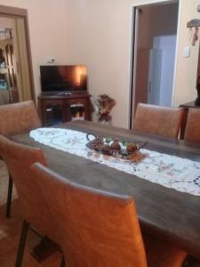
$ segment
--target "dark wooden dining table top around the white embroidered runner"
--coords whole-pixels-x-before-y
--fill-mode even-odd
[[[86,133],[116,137],[118,139],[148,141],[147,149],[175,155],[180,158],[200,160],[200,145],[158,139],[147,134],[133,133],[118,127],[92,122],[69,122],[58,127],[80,130]],[[12,137],[15,142],[40,147],[48,166],[73,182],[100,190],[128,194],[134,198],[140,225],[148,231],[171,240],[174,245],[200,258],[200,197],[165,188],[133,174],[126,174],[100,165],[92,160],[77,157],[35,142],[28,134]]]

